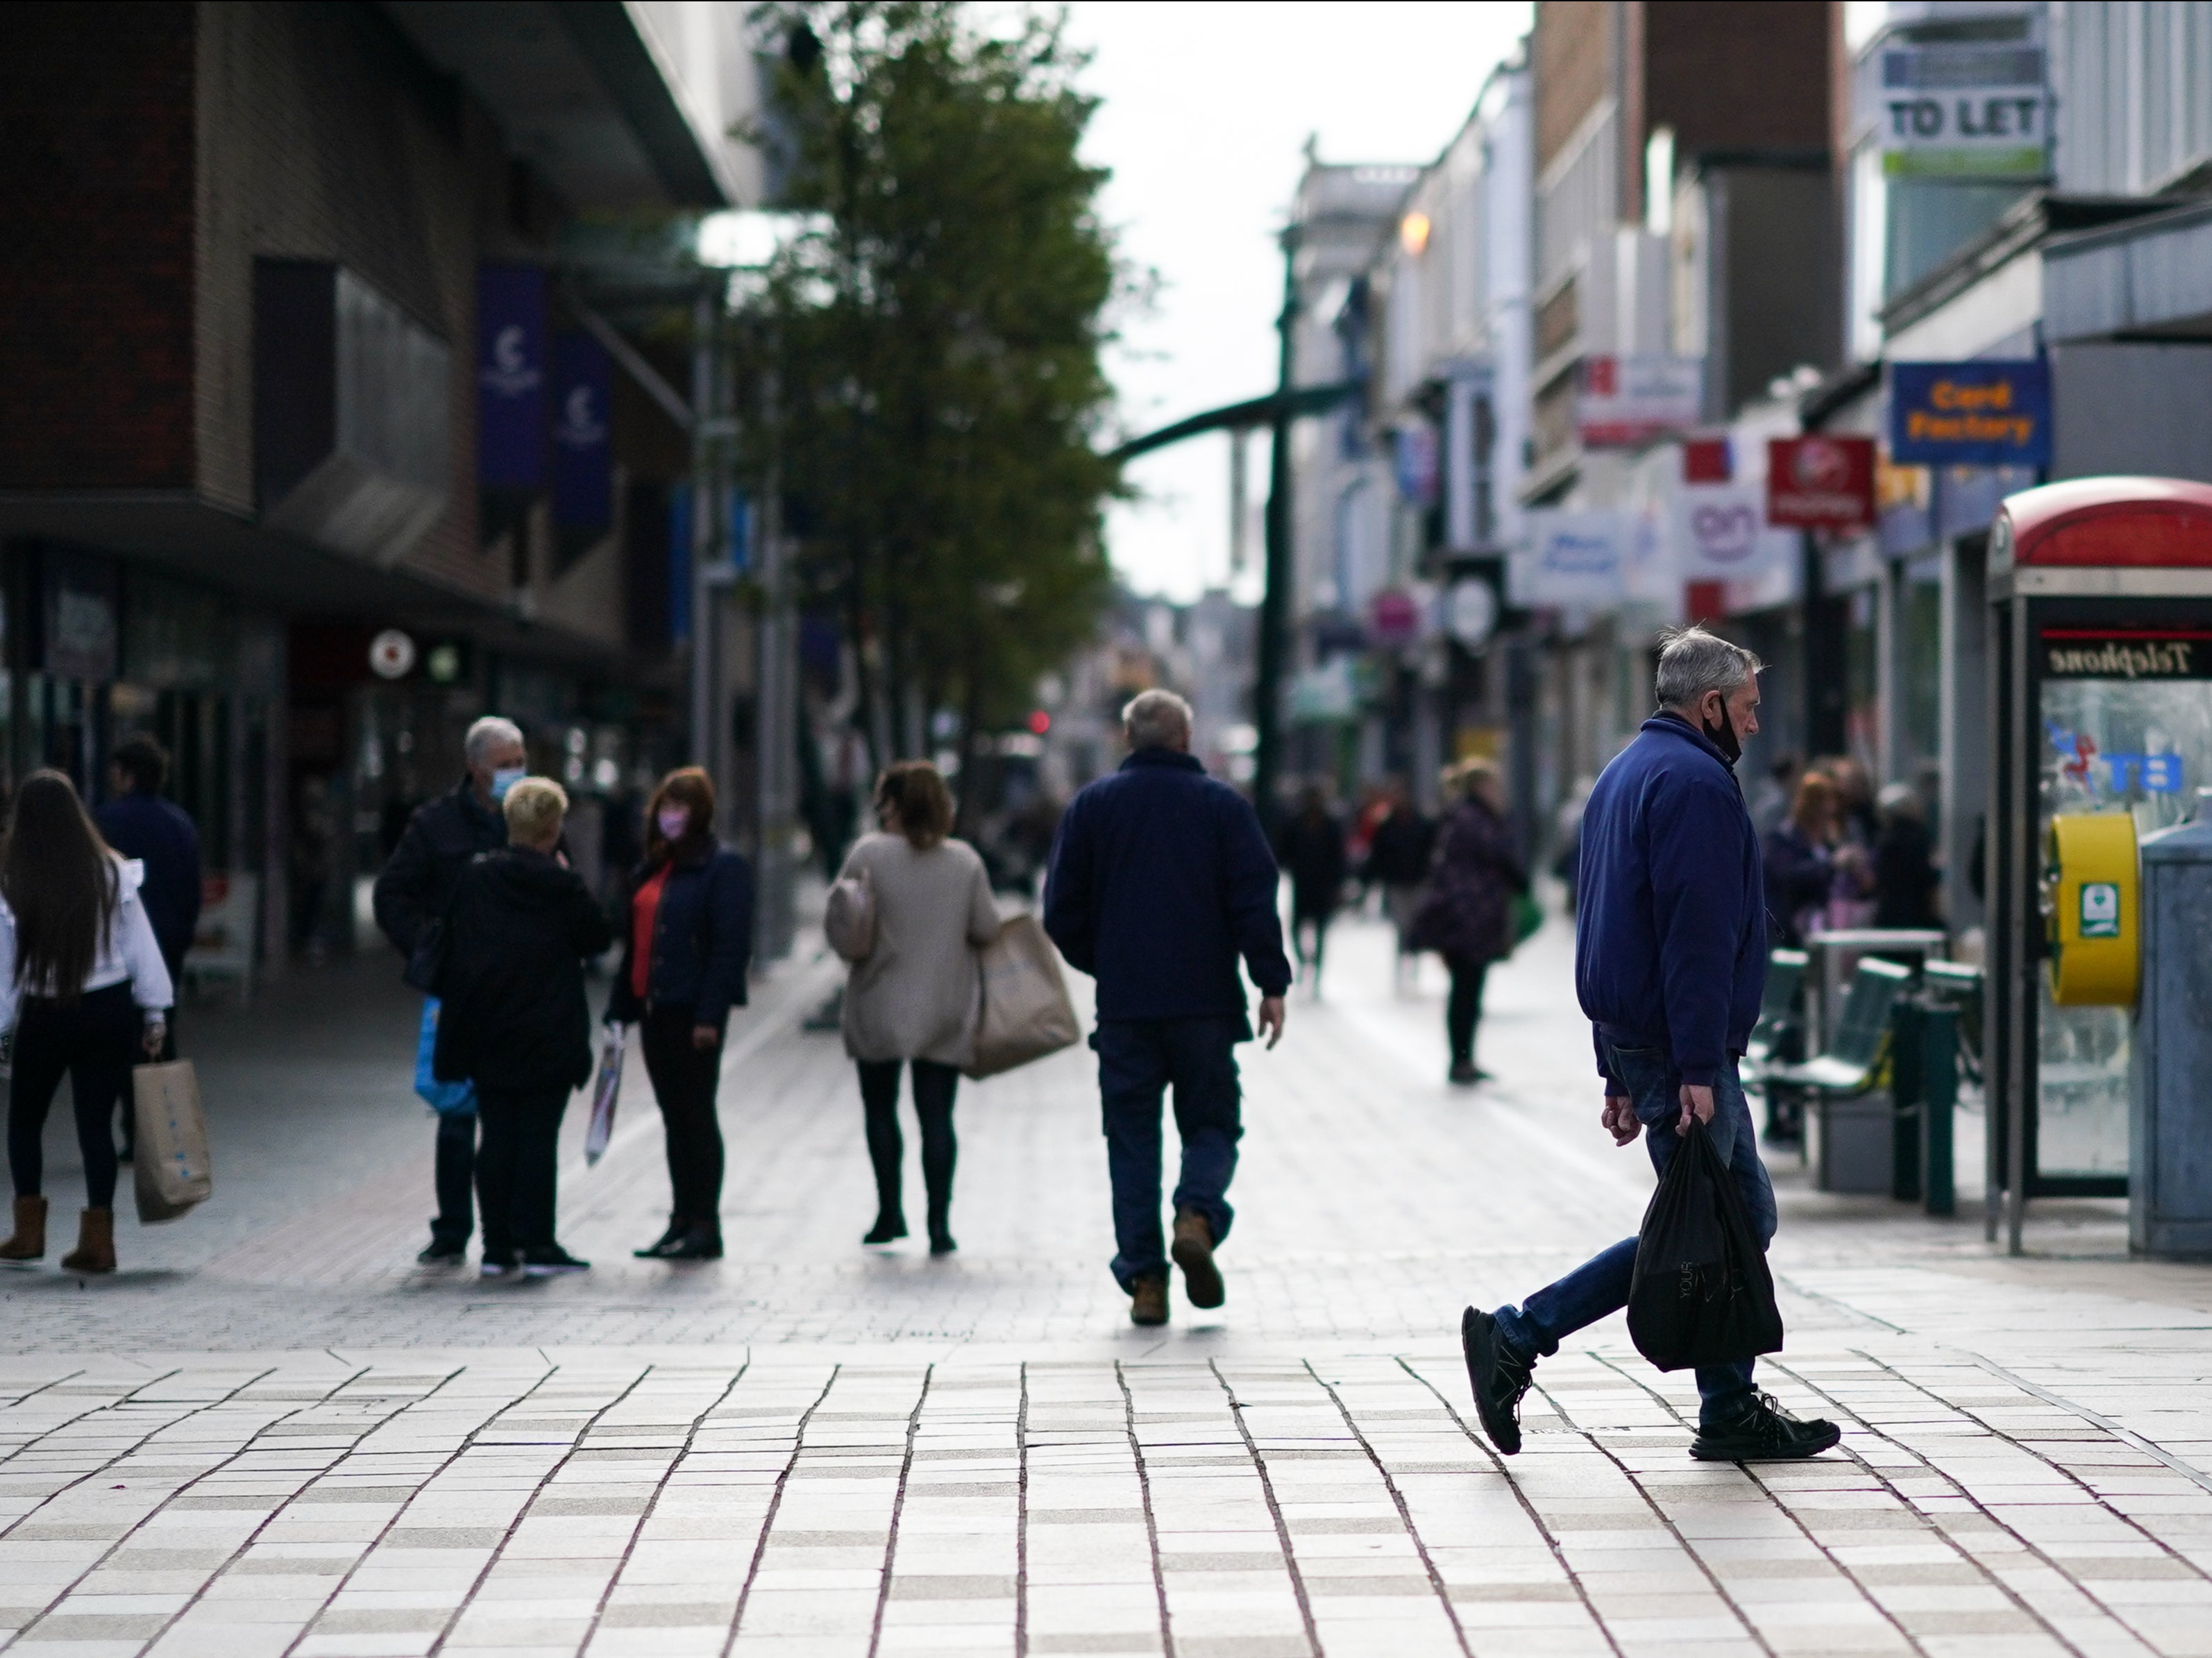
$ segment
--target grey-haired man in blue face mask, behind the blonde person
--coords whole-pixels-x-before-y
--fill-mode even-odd
[[[411,962],[422,933],[445,915],[460,871],[484,851],[507,844],[500,800],[529,772],[522,730],[495,714],[476,721],[462,738],[467,772],[451,794],[425,800],[407,820],[407,833],[376,878],[376,924],[400,959]],[[422,1265],[467,1260],[476,1229],[476,1099],[438,1103],[438,1218],[429,1222]]]

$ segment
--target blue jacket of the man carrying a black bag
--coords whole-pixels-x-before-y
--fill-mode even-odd
[[[1765,979],[1759,836],[1734,767],[1655,714],[1582,816],[1575,995],[1599,1035],[1663,1048],[1686,1083],[1710,1088],[1752,1039]]]

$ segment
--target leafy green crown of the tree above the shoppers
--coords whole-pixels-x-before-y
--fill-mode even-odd
[[[750,464],[787,504],[803,601],[860,646],[872,725],[900,743],[951,710],[967,754],[1110,588],[1099,351],[1128,290],[1106,172],[1077,155],[1086,60],[1060,18],[993,31],[945,0],[763,20],[792,46],[776,128],[799,230],[745,305]]]

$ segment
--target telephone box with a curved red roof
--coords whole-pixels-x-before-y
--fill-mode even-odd
[[[2141,836],[2212,785],[2212,486],[2006,497],[1989,604],[1989,1220],[2002,1192],[2017,1253],[2028,1198],[2128,1192],[2135,1012],[2053,999],[2044,849],[2057,816],[2126,811]]]

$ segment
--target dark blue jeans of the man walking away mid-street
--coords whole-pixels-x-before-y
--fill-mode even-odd
[[[1183,1141],[1175,1207],[1203,1214],[1217,1245],[1230,1236],[1234,1211],[1225,1194],[1243,1136],[1237,1043],[1250,1035],[1243,1019],[1113,1019],[1093,1032],[1113,1176],[1113,1276],[1121,1289],[1168,1271],[1159,1225],[1159,1099],[1170,1083],[1175,1132]]]

